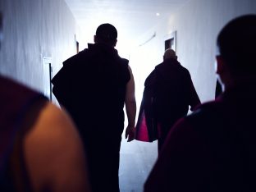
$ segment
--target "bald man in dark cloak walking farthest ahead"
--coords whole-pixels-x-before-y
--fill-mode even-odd
[[[148,91],[152,93],[152,99],[148,100],[152,100],[153,113],[150,117],[147,116],[149,112],[145,111],[145,114],[147,126],[150,126],[149,122],[153,122],[157,129],[160,152],[171,126],[187,114],[189,106],[193,111],[194,107],[200,104],[200,100],[190,72],[177,61],[176,53],[171,48],[165,51],[163,62],[156,66],[145,80],[145,89],[152,89]],[[150,110],[150,107],[148,108]],[[149,118],[153,121],[149,121]],[[139,130],[136,131],[138,133]]]

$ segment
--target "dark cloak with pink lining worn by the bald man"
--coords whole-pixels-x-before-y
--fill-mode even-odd
[[[171,126],[179,118],[185,117],[189,106],[193,110],[200,103],[190,72],[173,58],[156,66],[145,80],[144,86],[144,97],[136,126],[137,139],[143,137],[139,131],[144,126],[148,128],[149,141],[158,139],[160,135],[156,134],[159,129],[162,135],[167,135]],[[146,122],[144,126],[143,119]]]

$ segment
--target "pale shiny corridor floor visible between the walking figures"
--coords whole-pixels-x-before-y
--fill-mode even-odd
[[[157,142],[146,143],[133,140],[121,142],[119,181],[121,192],[142,192],[144,181],[149,176],[158,156]]]

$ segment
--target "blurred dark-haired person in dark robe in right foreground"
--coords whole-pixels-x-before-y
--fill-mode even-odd
[[[171,129],[144,191],[256,191],[256,15],[218,34],[224,93]]]

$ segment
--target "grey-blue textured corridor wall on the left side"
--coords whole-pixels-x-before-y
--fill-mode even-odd
[[[43,57],[53,75],[75,53],[75,19],[63,0],[0,0],[3,35],[0,73],[43,91]]]

